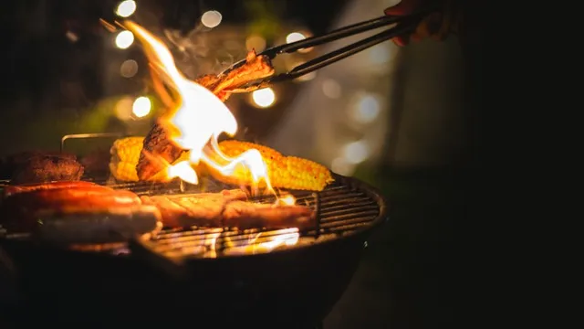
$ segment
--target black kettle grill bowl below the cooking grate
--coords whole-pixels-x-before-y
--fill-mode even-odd
[[[380,206],[347,236],[294,249],[219,259],[189,259],[184,275],[140,255],[113,256],[5,240],[26,296],[23,319],[83,327],[185,324],[194,327],[297,328],[321,321],[356,271],[372,228],[386,219],[378,192],[354,179]]]

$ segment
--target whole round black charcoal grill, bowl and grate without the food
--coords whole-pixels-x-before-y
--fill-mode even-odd
[[[287,191],[297,202],[315,207],[318,225],[303,232],[297,245],[268,253],[222,252],[226,242],[258,233],[228,229],[216,239],[218,252],[213,257],[191,248],[216,234],[216,228],[164,230],[154,239],[99,253],[41,246],[26,239],[4,239],[3,247],[16,265],[26,313],[47,321],[109,328],[136,324],[171,328],[187,321],[202,328],[307,327],[321,321],[339,300],[371,229],[387,219],[386,204],[375,189],[349,177],[335,175],[335,180],[319,193]],[[139,195],[193,192],[178,182],[111,186]],[[203,186],[227,187],[213,182]]]

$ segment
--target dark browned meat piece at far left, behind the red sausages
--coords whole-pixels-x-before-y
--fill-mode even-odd
[[[78,181],[83,165],[70,154],[19,154],[12,160],[11,184]]]

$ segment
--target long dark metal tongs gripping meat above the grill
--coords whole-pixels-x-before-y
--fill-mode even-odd
[[[348,58],[362,50],[371,48],[383,41],[390,40],[393,37],[399,37],[403,34],[413,32],[416,27],[422,22],[422,19],[429,14],[435,12],[438,8],[429,7],[422,11],[409,16],[381,16],[373,18],[364,22],[350,25],[348,27],[341,27],[339,29],[333,30],[325,35],[319,37],[308,37],[296,42],[288,43],[285,45],[276,46],[273,48],[268,48],[263,52],[257,54],[258,56],[266,56],[267,58],[274,59],[280,54],[289,54],[296,52],[297,50],[303,48],[311,48],[315,46],[320,46],[327,44],[329,42],[337,41],[344,37],[350,37],[362,32],[366,32],[379,27],[386,27],[395,25],[383,32],[380,32],[372,37],[367,37],[349,46],[339,48],[328,54],[308,60],[306,63],[298,65],[296,68],[287,71],[286,73],[276,74],[272,77],[250,82],[236,88],[235,90],[230,90],[231,92],[249,92],[253,90],[260,90],[268,87],[269,85],[276,82],[283,82],[289,80],[295,80],[305,74],[313,72],[317,69],[326,67],[332,63],[335,63],[343,58]],[[245,59],[236,62],[234,65],[225,69],[222,74],[229,73],[233,69],[242,67],[245,64]]]

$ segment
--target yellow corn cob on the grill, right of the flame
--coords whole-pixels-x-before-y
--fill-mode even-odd
[[[219,143],[221,151],[235,157],[245,151],[256,149],[262,154],[267,166],[267,175],[274,187],[282,187],[297,190],[322,191],[334,179],[330,171],[322,164],[317,164],[307,159],[296,156],[285,156],[275,150],[255,143],[228,140]],[[228,184],[250,185],[252,176],[249,170],[239,166],[234,175],[225,176],[211,167],[207,168],[215,179]],[[262,182],[260,182],[260,186]]]

